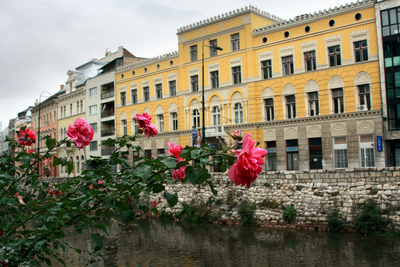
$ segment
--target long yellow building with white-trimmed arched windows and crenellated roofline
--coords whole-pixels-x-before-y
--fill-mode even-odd
[[[193,144],[204,67],[207,144],[251,133],[269,151],[267,170],[384,166],[373,2],[288,21],[250,6],[177,35],[179,52],[116,72],[117,135],[149,113],[160,134],[136,142],[148,155],[162,156],[170,141]]]

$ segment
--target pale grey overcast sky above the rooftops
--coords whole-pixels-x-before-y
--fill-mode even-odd
[[[33,105],[41,92],[59,90],[69,69],[103,57],[107,49],[115,52],[124,46],[135,56],[154,57],[178,49],[179,27],[246,5],[289,19],[349,2],[0,1],[0,121],[4,128],[18,112]]]

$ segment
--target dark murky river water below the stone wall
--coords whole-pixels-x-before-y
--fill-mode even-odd
[[[110,223],[109,234],[121,226]],[[69,240],[92,250],[90,232]],[[400,238],[250,226],[187,224],[150,219],[105,239],[93,267],[123,266],[400,266]],[[87,255],[68,250],[66,265],[84,266]]]

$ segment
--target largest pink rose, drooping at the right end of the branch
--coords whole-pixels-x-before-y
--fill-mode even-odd
[[[246,185],[250,188],[262,171],[261,165],[264,164],[263,158],[267,155],[267,150],[254,147],[254,145],[251,134],[247,133],[243,139],[243,149],[233,150],[233,153],[238,155],[238,159],[229,169],[228,176],[236,186]]]

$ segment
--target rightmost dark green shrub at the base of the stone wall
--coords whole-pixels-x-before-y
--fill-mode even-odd
[[[356,230],[361,234],[374,234],[383,231],[390,224],[382,217],[382,211],[373,199],[367,199],[361,205],[362,211],[355,220]]]

